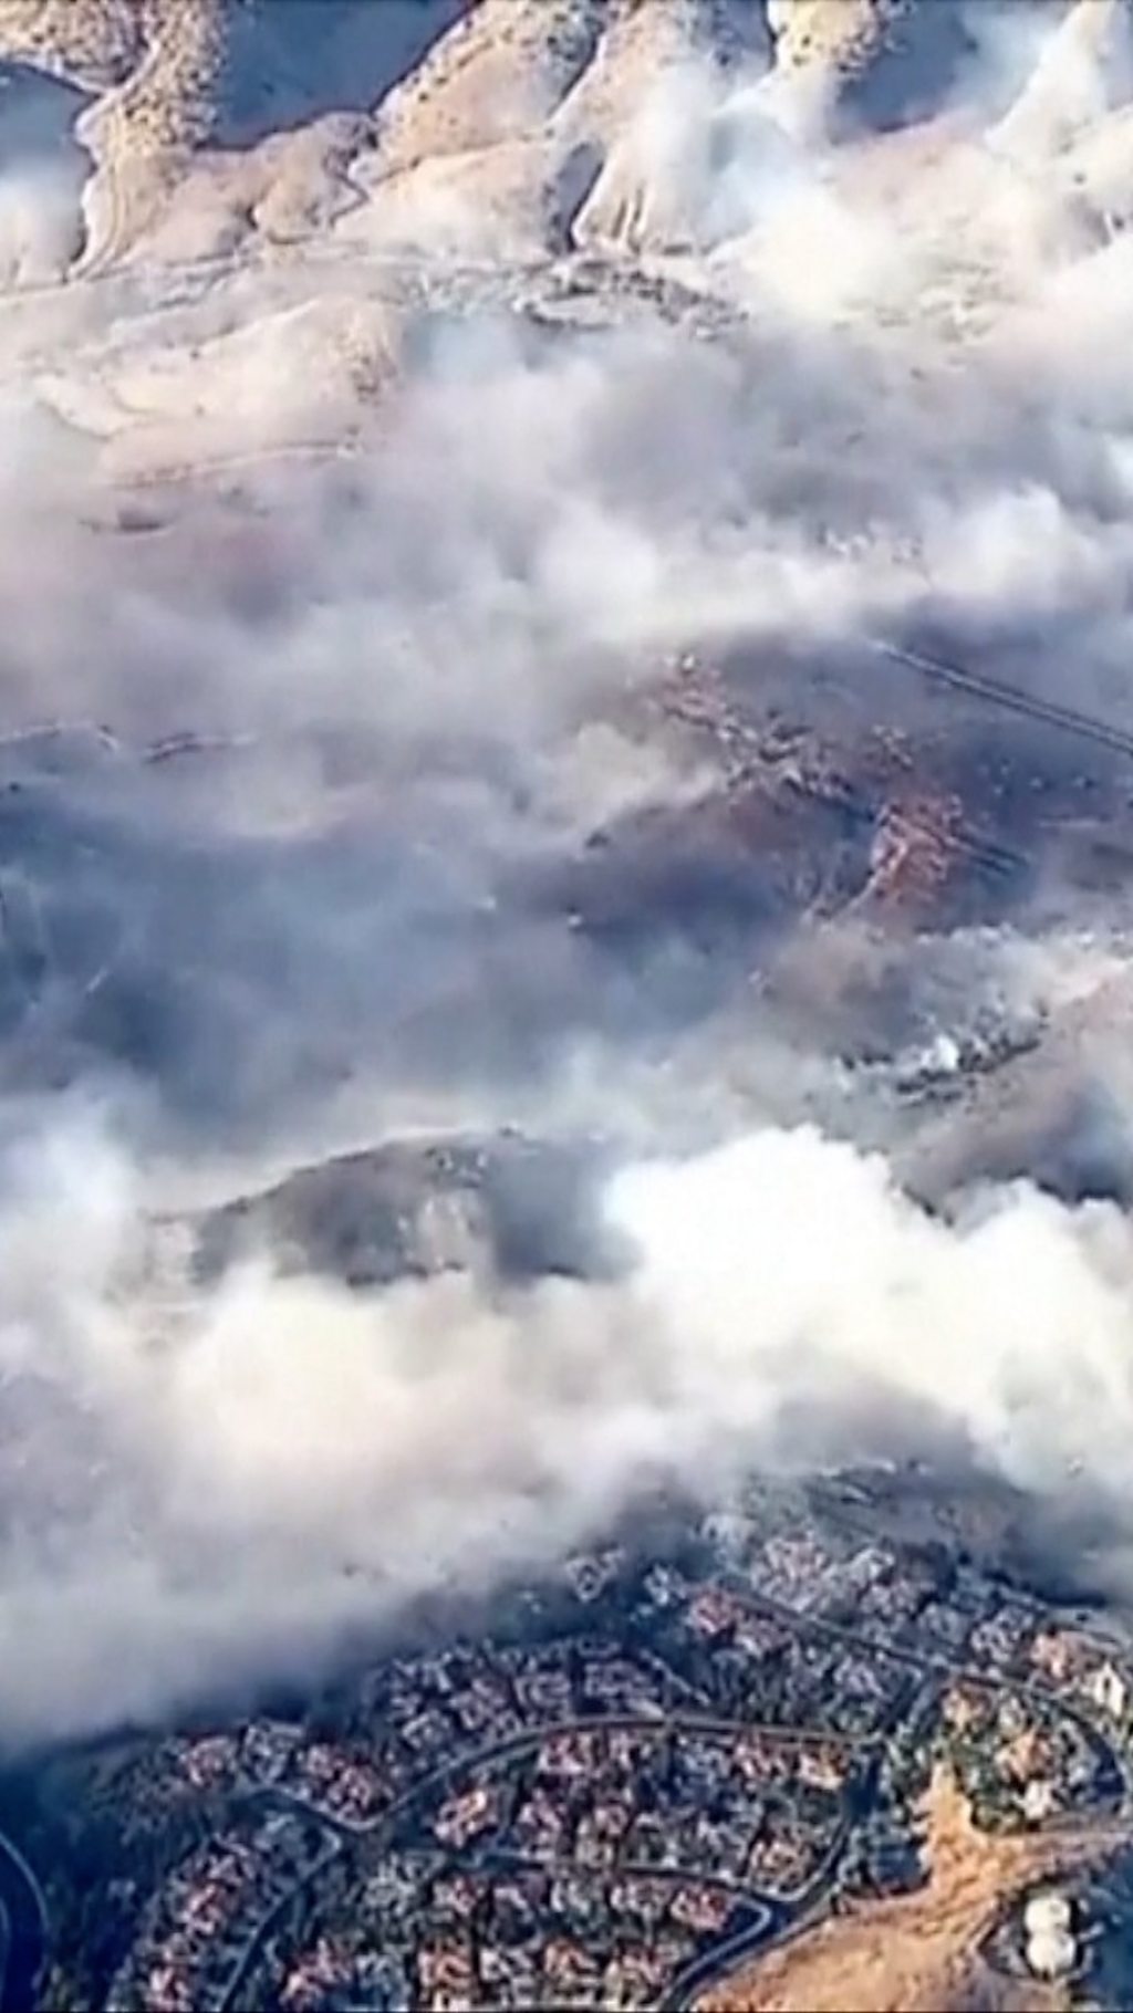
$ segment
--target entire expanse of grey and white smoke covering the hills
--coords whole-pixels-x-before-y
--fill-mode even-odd
[[[1026,101],[1036,22],[990,12],[885,141],[666,70],[580,209],[622,231],[588,328],[429,242],[380,300],[298,254],[52,292],[0,163],[0,1737],[302,1663],[658,1480],[1083,1461],[1127,1520],[1129,1226],[1024,1180],[1073,1190],[1034,1127],[1079,1113],[1133,1166],[1127,898],[1059,851],[1121,749],[873,648],[1133,731],[1119,24]],[[924,745],[1012,894],[885,936],[829,827],[781,866],[720,809],[743,751],[650,711],[688,646]],[[1038,1029],[1000,1101],[902,1103],[980,1015]],[[201,1282],[177,1242],[330,1147],[513,1119],[604,1135],[618,1276],[350,1292],[264,1234]]]

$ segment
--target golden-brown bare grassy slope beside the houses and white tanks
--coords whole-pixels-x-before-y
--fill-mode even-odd
[[[944,2013],[976,1995],[1006,2005],[1006,1983],[976,1975],[976,1949],[994,1916],[1028,1882],[1119,1842],[1101,1828],[1010,1838],[978,1832],[944,1769],[932,1779],[926,1820],[930,1878],[920,1892],[829,1916],[706,1993],[702,2013]],[[1026,1985],[1028,2013],[1061,2003],[1038,1983]]]

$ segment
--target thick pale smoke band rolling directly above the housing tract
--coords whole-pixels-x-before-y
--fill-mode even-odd
[[[151,1711],[487,1584],[634,1492],[962,1447],[1115,1500],[1133,1232],[1026,1186],[944,1222],[881,1157],[765,1129],[608,1188],[624,1278],[350,1294],[141,1264],[99,1131],[6,1166],[0,1608],[8,1735]],[[66,1645],[66,1653],[62,1647]],[[129,1655],[123,1647],[129,1645]]]

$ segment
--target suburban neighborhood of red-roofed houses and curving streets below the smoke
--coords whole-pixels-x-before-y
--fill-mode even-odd
[[[646,2007],[916,1890],[940,1765],[990,1832],[1121,1824],[1133,1655],[753,1486],[308,1697],[58,1755],[16,1808],[64,2005]]]

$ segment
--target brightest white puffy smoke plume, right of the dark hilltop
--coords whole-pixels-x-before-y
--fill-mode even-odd
[[[849,1415],[853,1433],[898,1401],[1022,1488],[1057,1490],[1083,1453],[1123,1486],[1133,1234],[1113,1208],[1020,1184],[944,1222],[881,1157],[813,1131],[634,1170],[612,1208],[638,1294],[688,1353],[682,1399],[718,1407],[718,1429],[729,1391],[771,1447],[785,1413]]]

